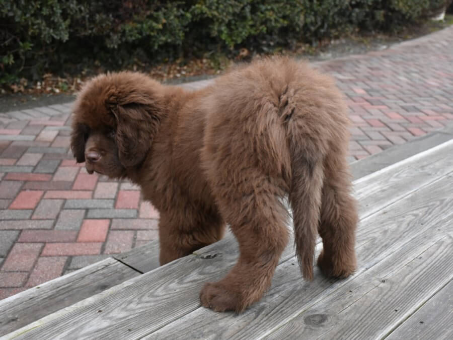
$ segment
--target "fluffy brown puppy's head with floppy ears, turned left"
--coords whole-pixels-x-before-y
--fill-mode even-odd
[[[71,149],[78,163],[112,178],[146,157],[163,115],[161,85],[139,73],[101,75],[75,102]]]

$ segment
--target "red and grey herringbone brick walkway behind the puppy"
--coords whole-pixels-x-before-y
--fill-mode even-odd
[[[316,66],[347,96],[351,161],[453,120],[453,26]],[[0,113],[0,299],[158,236],[158,213],[137,187],[74,162],[70,108]]]

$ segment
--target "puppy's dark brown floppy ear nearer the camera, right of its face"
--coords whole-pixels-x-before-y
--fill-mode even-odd
[[[117,121],[118,157],[125,168],[135,166],[145,158],[159,129],[158,111],[152,103],[137,102],[112,108]]]

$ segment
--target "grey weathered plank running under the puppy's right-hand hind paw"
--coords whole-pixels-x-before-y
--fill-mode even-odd
[[[400,259],[401,251],[405,251],[403,246],[417,250],[417,247],[432,245],[447,232],[453,231],[453,223],[446,222],[446,219],[451,221],[453,218],[451,190],[453,179],[445,176],[363,220],[357,232],[359,269],[352,279],[401,248],[395,257]],[[434,232],[432,229],[437,225],[440,227]],[[411,239],[414,236],[416,240]],[[283,325],[351,280],[328,280],[316,271],[315,281],[304,283],[296,271],[291,270],[292,265],[297,265],[295,259],[277,267],[270,291],[246,313],[234,316],[199,308],[150,334],[148,338],[192,338],[201,334],[203,338],[257,338],[266,334],[270,327]],[[390,268],[391,265],[392,262]]]

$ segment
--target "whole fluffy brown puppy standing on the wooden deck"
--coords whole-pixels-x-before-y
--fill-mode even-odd
[[[139,73],[101,75],[79,94],[71,148],[89,173],[129,178],[160,212],[160,262],[218,241],[225,223],[240,256],[206,284],[201,304],[243,311],[271,284],[288,241],[313,278],[317,231],[326,275],[356,266],[348,118],[331,78],[301,62],[260,59],[196,92]]]

